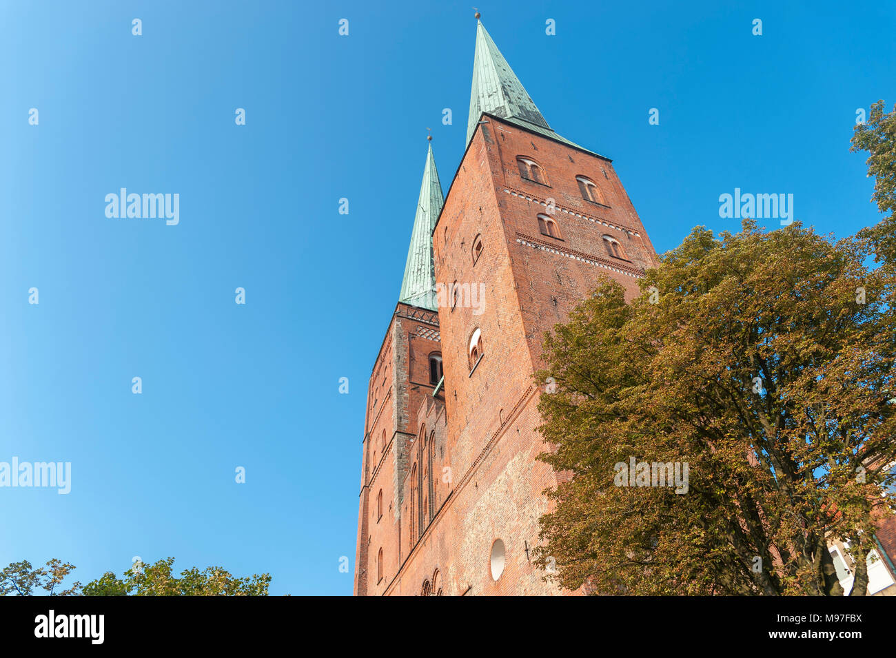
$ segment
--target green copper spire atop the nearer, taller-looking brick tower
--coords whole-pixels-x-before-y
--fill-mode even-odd
[[[476,26],[476,56],[473,58],[473,87],[470,90],[470,117],[467,120],[467,144],[476,132],[483,112],[500,116],[533,132],[573,144],[547,125],[510,64],[495,46],[482,21]],[[573,144],[573,146],[577,146]]]

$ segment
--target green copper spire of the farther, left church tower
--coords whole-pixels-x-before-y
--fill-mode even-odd
[[[420,184],[420,198],[417,214],[410,234],[408,262],[404,266],[399,301],[420,308],[437,311],[435,307],[435,264],[433,262],[433,229],[444,204],[439,173],[435,171],[433,145],[426,153],[426,167],[423,169],[423,183]]]

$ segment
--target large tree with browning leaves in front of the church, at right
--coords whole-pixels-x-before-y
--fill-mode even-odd
[[[894,209],[894,125],[875,104],[854,149]],[[538,561],[598,594],[866,594],[896,459],[892,216],[833,241],[798,223],[695,228],[626,303],[607,280],[546,337],[541,396],[564,477]],[[870,256],[882,263],[866,268]],[[687,464],[686,493],[618,486],[617,465]]]

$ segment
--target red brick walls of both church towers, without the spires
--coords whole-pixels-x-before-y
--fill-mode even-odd
[[[537,163],[542,182],[521,175],[517,158]],[[600,202],[584,198],[576,176],[597,186]],[[554,235],[543,235],[539,214],[554,220]],[[631,298],[656,252],[610,160],[487,114],[433,250],[436,285],[449,292],[437,316],[398,305],[370,380],[355,594],[572,594],[532,564],[543,491],[556,485],[536,459],[546,446],[532,373],[544,332],[599,278],[616,279]],[[477,329],[482,355],[472,363]],[[438,390],[428,372],[434,353],[444,367]],[[495,580],[498,539],[504,570]]]

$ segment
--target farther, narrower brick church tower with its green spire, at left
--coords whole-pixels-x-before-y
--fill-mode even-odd
[[[442,405],[444,399],[437,393],[442,355],[432,240],[443,203],[430,144],[399,301],[367,387],[355,594],[383,594],[386,577],[394,577],[400,567],[402,521],[405,537],[418,532],[422,524],[422,490],[426,485],[428,491],[432,470],[427,469],[424,477],[422,470],[414,469],[418,465],[411,457],[417,449],[420,406]],[[434,498],[427,496],[426,505]],[[412,507],[418,517],[413,524],[410,509],[404,515],[407,518],[402,517],[402,506]]]

